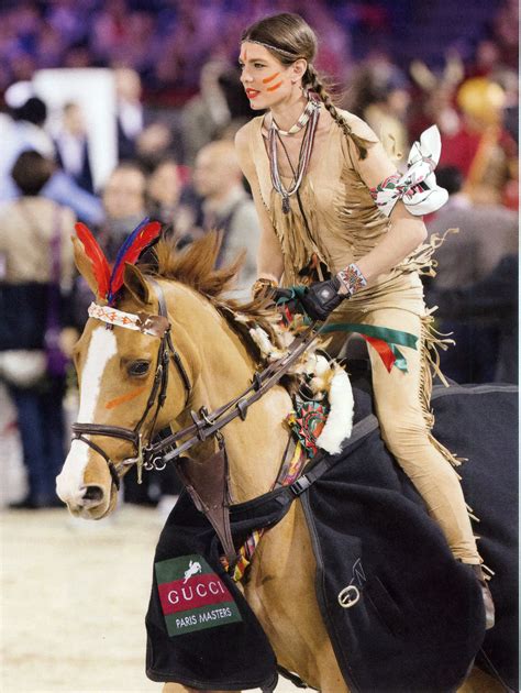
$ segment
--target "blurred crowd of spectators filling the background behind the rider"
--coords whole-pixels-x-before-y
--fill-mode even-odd
[[[517,382],[518,4],[491,3],[472,50],[442,45],[435,64],[422,56],[403,63],[392,53],[390,6],[1,3],[0,378],[15,415],[3,407],[0,440],[15,416],[27,473],[14,505],[57,503],[64,402],[74,403],[76,393],[71,345],[91,300],[74,271],[75,221],[91,228],[110,261],[144,217],[162,221],[180,244],[219,228],[219,263],[246,251],[236,296],[248,296],[259,228],[233,146],[252,114],[237,46],[241,31],[270,12],[299,12],[315,28],[318,67],[336,84],[340,106],[372,125],[398,168],[407,167],[422,131],[439,127],[436,175],[450,201],[425,221],[431,237],[458,229],[437,251],[437,275],[425,277],[437,328],[457,342],[441,367],[462,383]],[[361,55],[354,26],[374,38]],[[109,70],[115,160],[104,177],[97,174],[85,101],[56,107],[38,91],[38,72],[64,67]],[[125,499],[156,504],[176,491],[175,479],[148,475],[143,486],[125,484]]]

